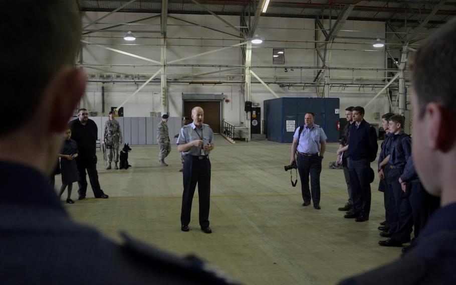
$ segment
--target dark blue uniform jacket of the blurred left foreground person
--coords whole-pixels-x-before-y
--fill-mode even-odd
[[[182,259],[125,234],[118,244],[74,222],[35,169],[0,161],[0,173],[2,284],[229,283],[196,257]]]

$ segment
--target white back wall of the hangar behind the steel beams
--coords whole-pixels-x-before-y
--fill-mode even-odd
[[[104,15],[103,13],[86,13],[88,19],[95,20]],[[121,13],[114,14],[106,18],[105,22],[126,22],[135,19],[150,17],[150,14],[129,14]],[[185,19],[190,22],[206,25],[220,25],[224,24],[213,16],[210,15],[171,15],[177,18]],[[229,21],[235,26],[239,26],[240,19],[236,16],[223,16],[226,21]],[[88,22],[89,20],[86,19]],[[147,22],[150,26],[131,26],[134,30],[154,30],[159,31],[160,18],[154,18]],[[172,26],[173,24],[182,23],[174,19],[168,19],[167,35],[168,37],[177,37],[177,39],[168,39],[167,48],[167,61],[172,61],[186,56],[199,54],[206,51],[221,48],[222,46],[229,46],[240,43],[240,40],[207,40],[201,38],[233,38],[232,36],[221,34],[215,31],[210,31],[201,27],[177,27]],[[314,20],[312,19],[286,19],[286,18],[272,18],[272,17],[261,17],[257,29],[257,34],[260,35],[265,41],[259,47],[254,47],[252,52],[252,65],[253,66],[273,66],[272,64],[272,49],[273,48],[285,48],[285,66],[317,66],[321,64],[317,61],[317,55],[313,50],[314,43],[296,43],[296,42],[277,42],[282,41],[313,41],[314,39]],[[328,26],[327,21],[324,25]],[[93,28],[103,28],[106,25],[94,25]],[[268,29],[268,28],[290,28],[290,29]],[[235,33],[231,28],[218,27],[217,29],[226,31],[227,33]],[[385,26],[384,23],[380,22],[360,22],[360,21],[347,21],[342,29],[346,30],[357,30],[365,32],[340,32],[341,36],[351,37],[384,37]],[[111,44],[112,48],[126,51],[129,53],[144,56],[156,61],[160,61],[160,39],[141,39],[138,38],[135,41],[136,45],[124,45],[126,42],[122,38],[110,38],[109,33],[103,33],[103,38],[91,37],[85,38],[93,43],[97,44]],[[113,33],[114,35],[114,33]],[[119,36],[119,34],[115,34]],[[158,34],[150,33],[135,33],[137,37],[159,37]],[[193,37],[195,39],[179,39],[179,37]],[[276,41],[274,41],[276,40]],[[358,42],[359,40],[340,39],[338,41],[344,42]],[[207,47],[211,46],[211,47]],[[297,49],[301,48],[301,49]],[[302,49],[308,48],[308,49]],[[348,45],[348,44],[333,44],[331,48],[341,49],[337,51],[331,51],[328,54],[329,66],[337,67],[368,67],[368,68],[384,68],[385,67],[385,54],[384,51],[344,51],[344,48],[349,49],[360,49],[360,50],[373,50],[371,45],[359,44],[359,45]],[[86,46],[84,48],[84,63],[85,64],[126,64],[126,65],[144,65],[152,64],[150,62],[121,55],[105,49]],[[240,48],[226,49],[222,52],[208,54],[202,57],[192,58],[179,63],[182,64],[213,64],[213,65],[241,65],[242,64],[242,52]],[[86,68],[88,73],[109,73],[109,71],[121,72],[127,74],[143,74],[145,78],[155,73],[159,66],[107,66],[99,67],[107,70],[108,72],[94,70]],[[167,67],[166,73],[168,79],[179,78],[182,75],[191,75],[203,72],[209,72],[217,70],[215,67]],[[282,65],[277,65],[275,69],[266,68],[253,68],[261,78],[269,80],[304,80],[309,81],[313,79],[317,73],[316,69],[304,69],[284,72]],[[226,74],[232,74],[230,77],[233,81],[239,81],[243,70],[235,70],[226,72]],[[204,78],[217,80],[226,80],[224,73],[204,76]],[[353,76],[355,80],[361,80],[360,78],[370,78],[375,80],[377,76],[383,77],[384,74],[378,75],[375,71],[332,71],[331,81],[349,80]],[[159,79],[159,75],[157,77]],[[252,77],[253,78],[253,77]],[[124,105],[125,116],[149,116],[150,112],[161,112],[161,94],[160,94],[160,83],[159,80],[154,80],[154,83],[150,83],[147,87],[143,88],[134,98],[128,101]],[[133,93],[140,83],[105,83],[105,113],[109,112],[111,106],[118,106],[122,103],[131,93]],[[86,95],[81,100],[80,106],[90,109],[91,111],[99,112],[101,114],[101,86],[102,83],[88,83],[86,88]],[[314,87],[307,86],[303,87],[280,87],[277,84],[269,84],[279,96],[284,97],[315,97],[316,90]],[[225,99],[229,99],[230,102],[223,102],[223,117],[225,120],[239,125],[245,120],[244,112],[244,99],[242,95],[242,89],[244,86],[239,83],[233,84],[217,84],[217,85],[196,85],[188,83],[169,83],[168,82],[168,103],[169,113],[171,116],[182,115],[182,93],[200,93],[200,94],[220,94],[223,93]],[[366,90],[358,90],[358,88],[335,88],[330,90],[330,97],[340,97],[341,109],[349,105],[361,105],[367,103],[379,90],[376,88],[366,88]],[[252,84],[252,101],[260,103],[263,107],[263,101],[267,99],[275,98],[263,85]],[[388,101],[384,95],[378,97],[378,99],[372,103],[366,109],[366,119],[373,121],[373,113],[380,112],[384,113],[388,109]],[[343,113],[343,112],[342,112]],[[342,114],[343,115],[343,114]]]

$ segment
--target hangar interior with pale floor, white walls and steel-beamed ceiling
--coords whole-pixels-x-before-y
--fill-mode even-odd
[[[100,184],[110,199],[66,206],[76,220],[113,239],[126,231],[178,255],[194,253],[246,284],[330,284],[399,257],[399,249],[377,245],[384,214],[377,177],[369,222],[344,220],[337,211],[347,200],[346,185],[342,171],[327,166],[336,159],[338,143],[328,143],[323,160],[322,210],[301,207],[299,183],[293,188],[283,170],[290,144],[266,139],[264,102],[337,98],[341,118],[348,106],[365,107],[372,123],[395,112],[405,116],[411,133],[413,54],[456,14],[456,2],[79,0],[78,5],[83,34],[76,65],[87,77],[78,108],[106,120],[111,109],[123,107],[123,122],[156,123],[167,113],[176,117],[176,132],[177,117],[190,115],[186,103],[216,102],[205,113],[218,109],[217,120],[247,128],[249,139],[231,144],[215,136],[212,235],[198,230],[197,199],[190,224],[195,230],[179,229],[182,174],[176,146],[163,168],[155,143],[140,139],[128,170],[105,171],[98,153]],[[246,101],[261,108],[257,133]]]

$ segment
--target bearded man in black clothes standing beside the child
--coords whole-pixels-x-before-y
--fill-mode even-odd
[[[71,137],[78,144],[79,156],[76,158],[76,164],[79,171],[79,200],[86,198],[87,178],[86,170],[89,174],[90,186],[92,186],[95,198],[109,198],[100,188],[97,172],[97,124],[89,119],[89,111],[81,108],[78,110],[78,118],[71,122]]]

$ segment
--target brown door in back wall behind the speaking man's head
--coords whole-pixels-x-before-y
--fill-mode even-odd
[[[214,133],[220,133],[220,101],[185,100],[182,115],[191,117],[191,109],[193,109],[196,106],[199,106],[204,110],[204,123],[208,124]]]

